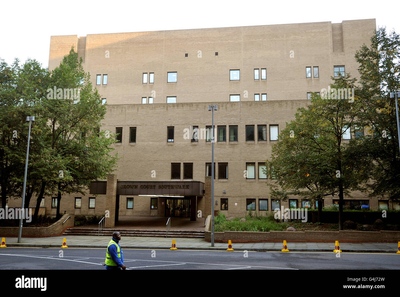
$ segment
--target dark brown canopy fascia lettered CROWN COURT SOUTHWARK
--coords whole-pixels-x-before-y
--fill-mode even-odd
[[[120,182],[117,195],[204,196],[204,182]],[[107,182],[90,182],[90,194],[107,194]]]

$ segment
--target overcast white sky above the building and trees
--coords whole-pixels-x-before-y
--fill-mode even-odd
[[[399,0],[3,0],[0,59],[48,66],[50,36],[375,18],[400,34]],[[391,14],[388,15],[388,12]]]

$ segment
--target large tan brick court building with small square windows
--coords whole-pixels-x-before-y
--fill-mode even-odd
[[[114,147],[122,157],[108,182],[95,185],[98,196],[63,196],[62,213],[110,210],[117,217],[192,220],[198,210],[210,214],[208,105],[214,104],[215,209],[242,216],[250,207],[259,213],[279,207],[261,170],[279,131],[309,103],[310,92],[328,87],[331,76],[358,77],[354,53],[370,44],[375,28],[369,19],[52,36],[49,69],[76,48],[107,102],[101,129],[120,133]],[[326,197],[324,204],[335,199]],[[349,207],[399,207],[362,193],[345,199]],[[43,206],[55,214],[54,199],[46,197]],[[292,197],[282,206],[308,204]]]

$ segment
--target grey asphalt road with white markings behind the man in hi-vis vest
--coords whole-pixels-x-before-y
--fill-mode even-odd
[[[122,249],[129,269],[399,269],[396,253]],[[104,269],[105,249],[7,247],[1,269]],[[153,257],[152,257],[153,256]]]

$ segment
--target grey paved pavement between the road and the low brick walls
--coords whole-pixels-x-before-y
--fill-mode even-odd
[[[111,236],[54,236],[41,238],[22,238],[18,243],[18,238],[6,238],[8,247],[61,247],[63,238],[66,238],[68,247],[107,247]],[[141,249],[169,249],[173,238],[161,237],[135,237],[122,236],[120,246],[122,248],[141,248]],[[206,249],[206,250],[226,250],[228,244],[215,243],[211,247],[210,242],[202,238],[175,238],[178,249]],[[280,242],[260,242],[260,243],[235,243],[232,247],[238,251],[280,251]],[[288,249],[291,251],[333,251],[335,242],[287,242]],[[374,252],[374,253],[396,253],[397,243],[340,243],[340,249],[344,252]],[[4,250],[2,248],[2,250]],[[399,255],[400,256],[400,255]]]

